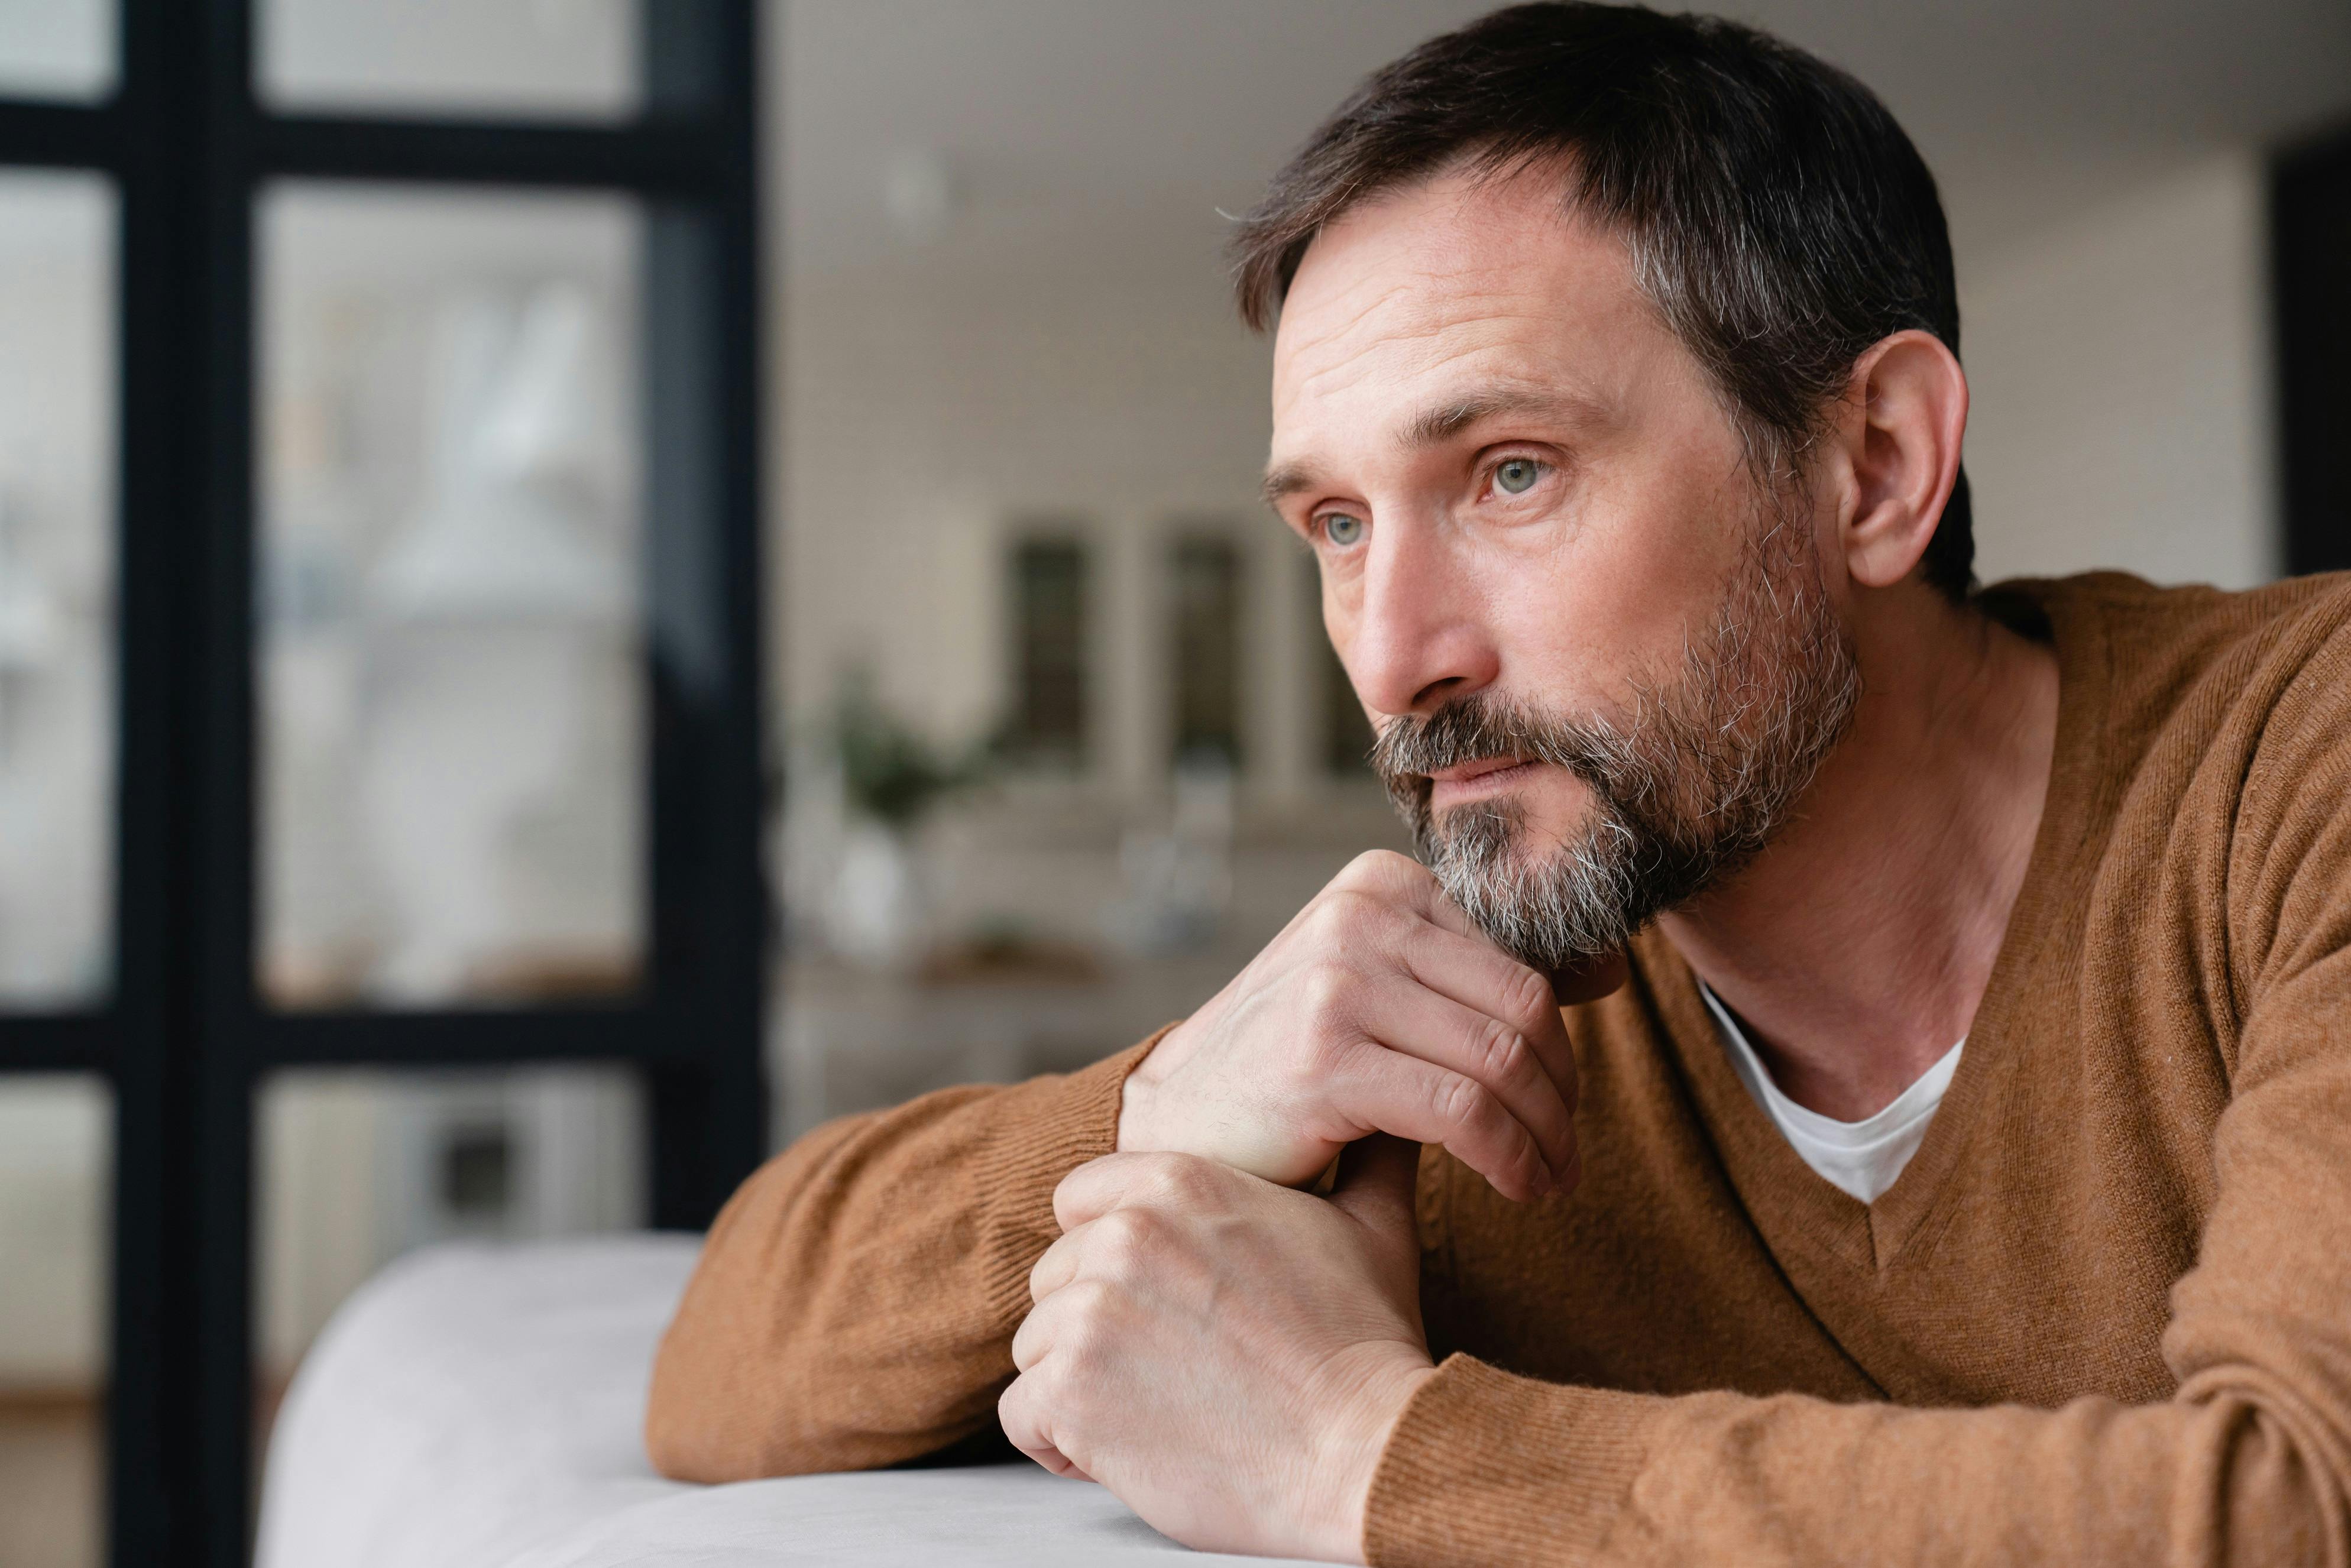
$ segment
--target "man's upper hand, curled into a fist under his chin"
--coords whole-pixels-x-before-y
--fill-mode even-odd
[[[1599,994],[1613,976],[1570,980]],[[1406,856],[1359,856],[1126,1079],[1121,1152],[1298,1187],[1371,1133],[1441,1143],[1498,1192],[1575,1182],[1575,1053],[1554,980]]]

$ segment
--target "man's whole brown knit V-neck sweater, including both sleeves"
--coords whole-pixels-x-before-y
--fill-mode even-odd
[[[2351,581],[2010,592],[2057,757],[1918,1154],[1869,1206],[1813,1175],[1643,938],[1568,1016],[1582,1185],[1422,1159],[1444,1363],[1375,1563],[2351,1563]],[[1147,1048],[745,1182],[654,1371],[661,1469],[987,1427],[1053,1185]]]

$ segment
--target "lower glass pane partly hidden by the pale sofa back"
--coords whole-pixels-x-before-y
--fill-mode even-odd
[[[623,1067],[287,1072],[261,1088],[256,1138],[263,1432],[320,1328],[393,1258],[644,1225],[642,1093]]]

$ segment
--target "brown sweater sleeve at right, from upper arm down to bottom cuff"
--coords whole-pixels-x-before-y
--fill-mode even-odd
[[[2351,722],[2290,729],[2238,813],[2245,1006],[2168,1401],[1655,1396],[1453,1356],[1380,1458],[1368,1559],[2351,1568]]]

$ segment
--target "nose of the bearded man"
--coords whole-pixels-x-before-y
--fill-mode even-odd
[[[1333,625],[1354,693],[1378,715],[1429,712],[1493,684],[1500,649],[1479,614],[1481,595],[1455,541],[1436,520],[1373,527],[1354,604]]]

